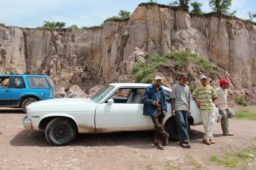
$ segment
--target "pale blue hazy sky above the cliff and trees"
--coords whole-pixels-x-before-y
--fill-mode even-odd
[[[157,0],[168,4],[173,0]],[[203,12],[211,12],[209,0],[204,3]],[[237,10],[236,17],[249,19],[248,12],[256,13],[255,0],[233,0],[230,12]],[[43,21],[65,22],[66,26],[100,25],[107,17],[117,15],[120,10],[131,13],[141,2],[148,0],[0,0],[0,23],[6,26],[36,28]],[[190,8],[191,10],[191,8]]]

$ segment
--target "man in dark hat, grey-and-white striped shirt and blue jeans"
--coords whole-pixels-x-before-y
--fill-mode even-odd
[[[172,116],[175,116],[177,128],[180,136],[180,146],[190,148],[188,129],[188,115],[191,114],[189,101],[191,93],[189,86],[186,85],[188,80],[187,74],[180,74],[180,83],[177,83],[172,88],[170,98],[172,99]]]

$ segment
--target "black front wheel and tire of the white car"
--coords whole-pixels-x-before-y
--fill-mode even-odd
[[[67,118],[52,119],[45,129],[47,141],[55,146],[64,146],[73,141],[76,135],[76,126]]]

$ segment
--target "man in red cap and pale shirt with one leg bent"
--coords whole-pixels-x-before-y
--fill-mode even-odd
[[[221,129],[223,135],[233,136],[233,133],[230,133],[228,130],[228,118],[235,116],[235,113],[232,109],[227,108],[227,88],[229,86],[229,81],[227,79],[221,79],[219,81],[220,87],[215,89],[216,94],[218,95],[218,99],[216,102],[218,103],[219,113],[222,115],[221,119]]]

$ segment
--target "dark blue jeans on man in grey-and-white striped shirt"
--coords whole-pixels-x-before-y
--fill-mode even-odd
[[[175,120],[180,136],[180,142],[188,142],[188,111],[175,111]]]

